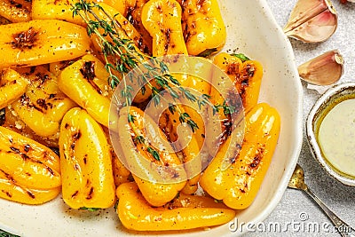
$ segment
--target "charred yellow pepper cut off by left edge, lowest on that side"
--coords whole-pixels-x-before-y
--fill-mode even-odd
[[[0,126],[0,197],[41,204],[55,198],[60,186],[58,155]]]

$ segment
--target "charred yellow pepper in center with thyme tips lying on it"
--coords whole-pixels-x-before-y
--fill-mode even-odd
[[[152,118],[144,115],[137,107],[123,107],[117,125],[126,166],[132,172],[146,201],[157,207],[171,201],[185,186],[185,170],[181,167],[171,173],[168,171],[167,178],[170,178],[170,182],[167,180],[169,183],[162,183],[164,172],[163,169],[159,170],[159,167],[174,168],[181,165],[162,131]],[[149,143],[145,126],[150,132],[155,132],[154,141],[157,147]],[[161,139],[163,141],[160,141]]]

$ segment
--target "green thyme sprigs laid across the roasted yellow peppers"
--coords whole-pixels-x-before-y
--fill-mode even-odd
[[[101,19],[94,9],[102,12],[105,20]],[[162,99],[166,100],[162,96],[162,91],[165,90],[169,91],[173,99],[178,99],[182,96],[191,101],[196,101],[191,91],[181,87],[177,79],[169,74],[169,69],[163,61],[138,51],[135,43],[129,39],[129,36],[122,29],[121,24],[114,20],[114,17],[110,16],[99,4],[80,0],[73,5],[72,10],[74,16],[80,16],[87,24],[88,35],[94,34],[99,38],[99,46],[106,61],[106,70],[109,74],[107,80],[110,86],[115,88],[121,81],[124,83],[121,96],[126,101],[123,106],[130,105],[133,101],[133,88],[126,81],[126,77],[131,82],[134,79],[137,80],[141,86],[140,91],[142,94],[146,93],[147,86],[152,91],[154,105],[158,105]],[[107,36],[108,39],[106,38]],[[114,61],[112,58],[114,58]],[[147,63],[147,60],[150,63]],[[140,75],[136,76],[131,70],[134,68],[139,70],[139,65],[143,65],[146,72],[140,70]],[[114,72],[118,72],[122,80]],[[159,88],[150,83],[148,80],[150,78],[154,79]],[[180,107],[176,107],[176,111],[179,114],[180,122],[186,122],[193,131],[199,129],[191,116],[186,115]]]

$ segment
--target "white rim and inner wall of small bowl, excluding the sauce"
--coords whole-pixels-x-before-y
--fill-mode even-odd
[[[319,126],[320,123],[323,122],[324,117],[333,107],[346,99],[355,99],[355,82],[340,83],[328,89],[316,101],[307,117],[306,135],[313,156],[319,164],[327,170],[327,173],[344,185],[355,186],[355,178],[351,178],[351,176],[347,176],[341,171],[336,170],[332,164],[327,161],[325,155],[321,152],[317,139]]]

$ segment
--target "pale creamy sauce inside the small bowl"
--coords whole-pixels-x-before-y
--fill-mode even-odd
[[[355,178],[355,99],[331,108],[320,122],[319,148],[336,171]]]

